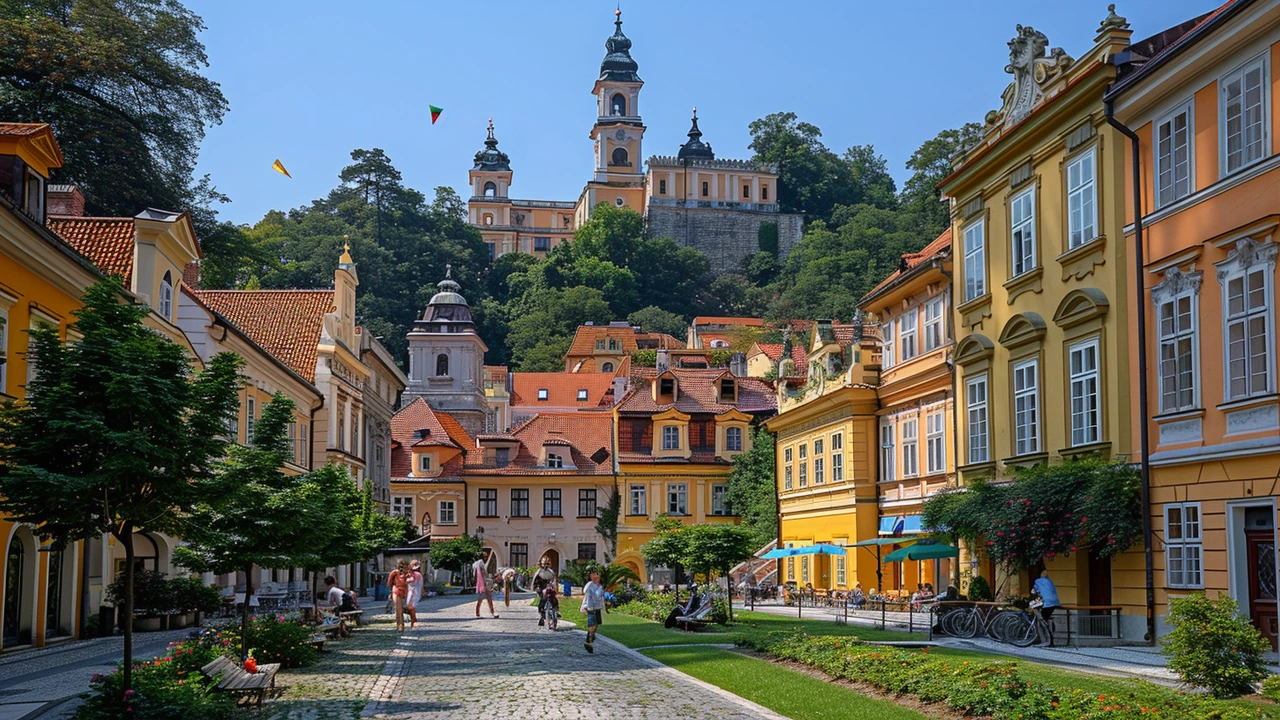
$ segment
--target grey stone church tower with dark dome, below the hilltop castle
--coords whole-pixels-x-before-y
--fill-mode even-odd
[[[484,354],[471,306],[448,268],[408,333],[408,387],[404,405],[421,397],[433,410],[457,418],[467,433],[483,433],[489,415],[484,395]]]

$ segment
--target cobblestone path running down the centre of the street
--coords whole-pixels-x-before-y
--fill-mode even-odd
[[[401,637],[362,716],[778,717],[609,641],[598,639],[589,655],[585,633],[539,628],[538,610],[527,602],[522,596],[499,606],[497,620],[476,619],[475,603],[457,597],[420,607],[417,629]]]

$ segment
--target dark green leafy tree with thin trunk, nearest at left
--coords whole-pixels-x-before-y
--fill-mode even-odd
[[[227,451],[241,360],[215,355],[192,373],[178,345],[123,302],[115,281],[84,293],[81,341],[31,332],[36,375],[26,402],[0,409],[0,507],[55,547],[110,533],[124,548],[124,618],[133,618],[133,533],[182,536],[202,482]],[[124,623],[124,687],[133,624]]]

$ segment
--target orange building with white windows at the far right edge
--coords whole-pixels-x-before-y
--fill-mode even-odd
[[[1117,63],[1107,100],[1140,170],[1157,633],[1170,598],[1225,593],[1275,647],[1280,3],[1226,3]],[[1134,147],[1117,140],[1133,246]],[[1140,387],[1137,363],[1126,377]]]

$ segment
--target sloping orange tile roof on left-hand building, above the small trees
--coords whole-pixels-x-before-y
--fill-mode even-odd
[[[332,290],[196,290],[191,295],[315,382],[320,331],[325,313],[333,310]]]

